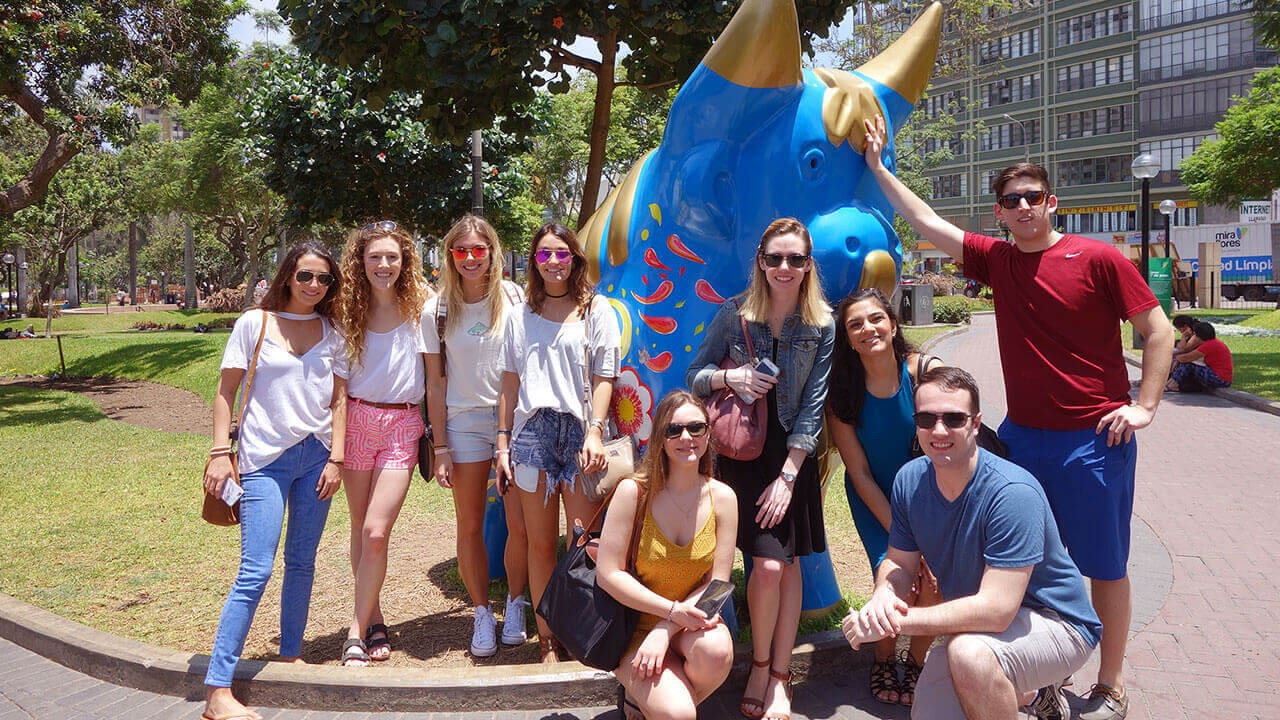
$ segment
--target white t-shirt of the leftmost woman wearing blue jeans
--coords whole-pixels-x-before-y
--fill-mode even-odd
[[[262,310],[250,310],[236,320],[223,351],[221,366],[246,370],[253,359],[253,346],[262,327]],[[289,352],[271,340],[262,338],[257,356],[257,370],[250,396],[244,424],[239,429],[239,471],[251,473],[270,465],[285,450],[302,442],[307,436],[330,447],[333,443],[333,374],[334,365],[343,361],[347,343],[342,334],[321,319],[324,334],[320,342],[301,356]],[[236,419],[233,409],[232,419]]]

